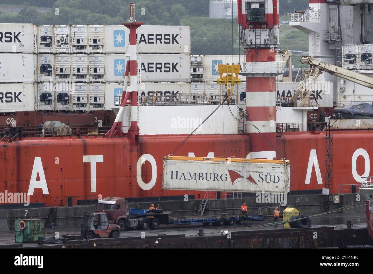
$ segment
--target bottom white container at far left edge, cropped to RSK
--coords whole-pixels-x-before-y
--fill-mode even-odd
[[[34,84],[0,84],[0,112],[34,111]]]

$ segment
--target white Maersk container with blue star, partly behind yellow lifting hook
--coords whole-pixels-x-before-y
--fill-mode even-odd
[[[203,81],[216,82],[220,78],[217,69],[219,64],[240,64],[243,62],[245,62],[244,55],[205,55],[203,58]],[[246,78],[240,75],[239,79],[245,80]]]

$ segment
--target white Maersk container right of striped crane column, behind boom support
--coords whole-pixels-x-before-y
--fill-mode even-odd
[[[294,82],[276,82],[276,97],[291,98],[295,94],[297,84]],[[333,107],[333,82],[316,81],[310,98],[316,96],[321,107]]]

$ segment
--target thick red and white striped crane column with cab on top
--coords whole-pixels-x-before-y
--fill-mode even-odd
[[[269,142],[276,146],[276,75],[285,68],[285,64],[276,62],[278,7],[279,0],[238,0],[239,39],[246,61],[241,64],[240,74],[246,76],[246,111],[252,122],[247,121],[251,158],[276,157]]]

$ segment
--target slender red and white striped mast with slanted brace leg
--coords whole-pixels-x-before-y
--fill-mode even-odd
[[[122,135],[127,133],[125,127],[122,126],[123,115],[125,114],[125,106],[131,106],[131,125],[128,129],[128,137],[135,144],[138,144],[140,139],[140,129],[137,125],[137,36],[136,29],[143,25],[142,22],[136,22],[135,20],[135,4],[129,3],[129,21],[122,23],[129,29],[129,45],[126,51],[127,62],[126,62],[126,72],[124,77],[124,86],[126,91],[123,91],[122,102],[118,114],[115,118],[112,128],[107,133],[109,137],[116,135]],[[130,80],[130,85],[128,84],[128,77]]]

